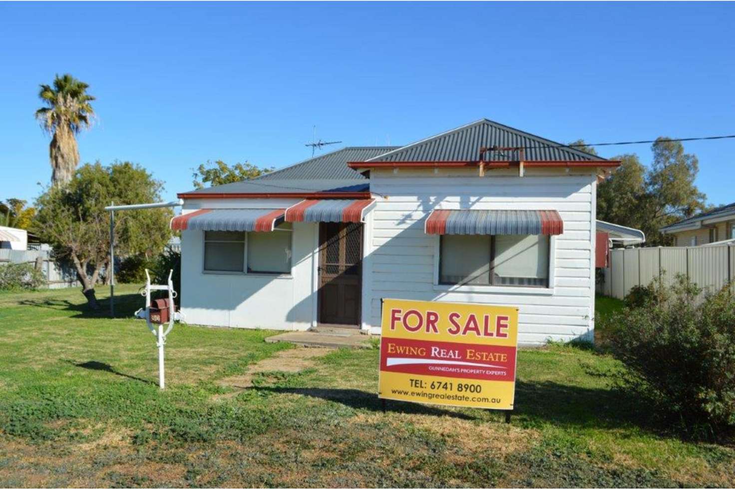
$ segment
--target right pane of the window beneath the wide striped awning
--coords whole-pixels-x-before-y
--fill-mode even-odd
[[[546,286],[549,272],[549,237],[495,236],[494,272],[494,284]]]

